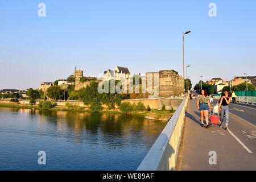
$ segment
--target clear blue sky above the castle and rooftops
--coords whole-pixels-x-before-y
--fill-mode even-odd
[[[46,17],[38,4],[46,3]],[[217,17],[209,17],[209,3]],[[256,1],[1,1],[0,89],[38,88],[73,74],[97,76],[115,65],[132,73],[185,64],[195,84],[256,75]]]

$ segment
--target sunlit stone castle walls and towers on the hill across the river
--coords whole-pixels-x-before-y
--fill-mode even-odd
[[[96,77],[84,77],[84,71],[79,68],[79,70],[75,67],[74,77],[75,82],[68,83],[67,80],[62,80],[59,84],[60,88],[63,90],[67,90],[69,85],[75,84],[75,90],[80,90],[81,88],[86,88],[86,86],[90,85],[90,82],[96,81],[100,83],[102,80],[108,81],[114,78],[125,78],[130,80],[131,74],[129,70],[125,67],[116,67],[114,69],[116,75],[111,75],[108,71],[104,72],[104,75],[101,78]],[[120,76],[121,75],[121,76]],[[141,75],[139,74],[141,77]],[[149,76],[149,77],[148,77]],[[158,83],[154,83],[156,80]],[[162,70],[159,72],[148,72],[146,73],[146,77],[141,77],[142,80],[146,81],[147,84],[147,92],[149,91],[148,88],[156,89],[158,92],[154,94],[149,94],[149,98],[157,98],[157,97],[171,97],[171,96],[179,96],[183,93],[184,85],[183,85],[183,77],[178,75],[175,71],[172,70]],[[118,79],[120,80],[120,79]],[[127,82],[128,84],[129,82]],[[43,92],[46,94],[47,89],[53,85],[53,82],[43,82],[40,85],[39,89],[42,89]],[[156,88],[157,87],[157,88]],[[150,92],[148,92],[150,93]]]

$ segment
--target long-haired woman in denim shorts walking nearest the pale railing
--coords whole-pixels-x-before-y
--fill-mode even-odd
[[[210,111],[210,98],[207,95],[206,90],[201,90],[200,96],[197,98],[197,109],[200,110],[200,117],[201,117],[201,127],[204,126],[204,117],[207,123],[206,128],[208,129],[209,126],[209,118],[208,114]]]

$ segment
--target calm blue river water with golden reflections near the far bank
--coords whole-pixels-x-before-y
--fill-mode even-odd
[[[0,108],[0,170],[136,170],[164,126],[123,114]]]

